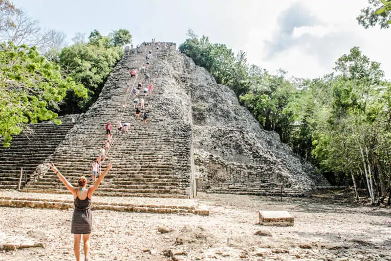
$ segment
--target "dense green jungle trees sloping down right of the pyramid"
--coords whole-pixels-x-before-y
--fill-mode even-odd
[[[288,79],[285,71],[249,65],[243,51],[235,55],[191,29],[187,35],[179,50],[232,88],[265,130],[278,132],[331,184],[365,188],[372,204],[390,195],[391,83],[359,47],[329,75]]]

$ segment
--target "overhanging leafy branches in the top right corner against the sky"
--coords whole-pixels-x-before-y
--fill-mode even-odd
[[[361,9],[357,21],[368,29],[380,25],[381,29],[389,28],[391,24],[391,0],[368,0],[369,6]]]

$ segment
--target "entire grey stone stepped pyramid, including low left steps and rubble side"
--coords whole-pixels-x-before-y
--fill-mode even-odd
[[[150,49],[150,79],[143,73],[131,78],[130,70],[145,65]],[[145,98],[145,126],[142,116],[134,119],[132,94],[126,92],[126,83],[138,82],[142,88],[153,83],[153,94]],[[130,129],[117,135],[121,117]],[[97,195],[192,198],[197,190],[304,196],[328,185],[277,133],[263,130],[232,90],[173,43],[158,51],[152,45],[127,49],[87,113],[60,119],[62,125],[30,124],[31,135],[16,136],[9,148],[0,149],[1,189],[17,189],[23,168],[22,191],[65,192],[50,162],[72,183],[81,175],[89,178],[109,121],[115,142],[105,161],[114,167]]]

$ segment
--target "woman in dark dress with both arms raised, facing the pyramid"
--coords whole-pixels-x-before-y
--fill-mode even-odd
[[[83,235],[84,241],[84,256],[85,261],[89,260],[89,239],[92,229],[92,212],[91,212],[91,197],[96,189],[98,189],[102,180],[111,169],[111,163],[108,164],[103,174],[98,178],[96,183],[87,187],[87,179],[85,176],[81,176],[78,180],[78,187],[73,187],[66,178],[60,173],[56,166],[52,163],[50,168],[56,172],[57,176],[64,183],[67,190],[69,190],[74,198],[75,208],[73,210],[71,231],[74,234],[73,250],[76,256],[76,261],[80,261],[80,242]]]

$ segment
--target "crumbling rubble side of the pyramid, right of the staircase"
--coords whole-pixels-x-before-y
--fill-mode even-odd
[[[327,184],[314,166],[280,142],[277,133],[263,130],[234,92],[217,84],[205,69],[176,51],[167,57],[167,66],[174,68],[171,77],[191,99],[198,189],[283,183],[304,191]]]

